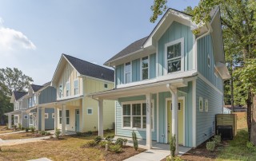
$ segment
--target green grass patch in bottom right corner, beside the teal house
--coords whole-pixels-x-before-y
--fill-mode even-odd
[[[256,160],[256,151],[246,147],[248,132],[239,130],[238,134],[218,154],[218,160]]]

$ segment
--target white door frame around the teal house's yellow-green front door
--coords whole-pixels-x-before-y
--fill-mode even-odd
[[[186,137],[185,137],[185,134],[186,134],[186,132],[185,132],[185,130],[186,130],[186,128],[185,128],[185,107],[186,107],[185,96],[178,96],[178,101],[179,100],[183,101],[183,146],[185,146],[185,139],[186,139]],[[172,98],[171,97],[166,98],[166,143],[168,143],[168,119],[167,119],[168,118],[168,111],[167,111],[167,108],[168,108],[167,102],[168,101],[172,101]]]

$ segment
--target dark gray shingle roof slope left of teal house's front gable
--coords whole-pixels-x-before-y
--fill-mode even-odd
[[[125,49],[122,49],[121,52],[117,53],[116,55],[114,55],[114,57],[111,57],[110,60],[108,60],[106,62],[113,61],[113,60],[117,59],[118,57],[124,57],[124,56],[128,55],[129,53],[133,53],[135,51],[138,51],[139,49],[142,49],[142,45],[144,44],[146,39],[147,39],[147,37],[144,37],[142,39],[139,39],[138,41],[134,41],[133,43],[128,45]]]

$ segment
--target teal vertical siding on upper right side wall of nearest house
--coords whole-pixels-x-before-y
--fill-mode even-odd
[[[210,35],[206,35],[198,40],[198,72],[223,92],[222,78],[217,72],[215,73],[214,49],[212,43]],[[210,57],[210,66],[207,61],[208,55]]]

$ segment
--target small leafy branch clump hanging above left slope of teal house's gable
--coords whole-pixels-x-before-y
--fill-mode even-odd
[[[159,15],[162,15],[163,12],[166,11],[167,0],[154,0],[154,5],[151,6],[151,10],[153,11],[153,15],[150,18],[150,22],[155,22],[158,19]]]

